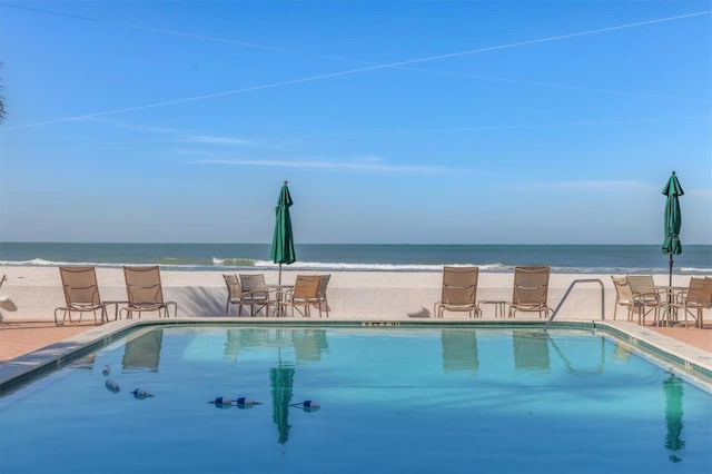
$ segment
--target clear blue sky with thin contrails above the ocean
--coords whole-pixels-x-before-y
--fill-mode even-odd
[[[712,1],[0,1],[0,241],[712,244]]]

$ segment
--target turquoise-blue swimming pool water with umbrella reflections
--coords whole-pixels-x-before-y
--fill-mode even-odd
[[[0,419],[8,473],[712,470],[712,395],[591,332],[144,328]]]

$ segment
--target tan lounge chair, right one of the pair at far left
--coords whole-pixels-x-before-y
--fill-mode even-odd
[[[170,317],[170,307],[174,308],[174,317],[178,317],[178,304],[164,299],[164,288],[160,283],[160,268],[158,265],[151,267],[123,267],[123,278],[126,279],[126,294],[128,304],[121,308],[126,312],[126,318],[131,319],[134,313],[157,312],[158,317],[166,315]]]

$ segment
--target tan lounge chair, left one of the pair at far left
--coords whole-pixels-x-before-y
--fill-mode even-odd
[[[69,323],[73,323],[72,313],[79,313],[79,322],[81,322],[83,313],[91,313],[95,324],[98,324],[97,312],[99,312],[101,323],[108,320],[107,307],[101,303],[99,296],[95,267],[59,267],[59,275],[65,293],[65,306],[55,309],[57,326],[63,326],[67,318],[69,318]],[[62,313],[61,320],[58,317],[59,313]]]

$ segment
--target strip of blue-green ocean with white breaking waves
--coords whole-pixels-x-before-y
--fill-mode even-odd
[[[171,270],[276,269],[269,244],[67,244],[0,243],[0,265],[160,265]],[[517,265],[550,265],[565,274],[666,274],[659,245],[367,245],[303,244],[287,268],[313,271],[441,271],[444,265],[477,265],[508,273]],[[684,245],[675,274],[712,274],[712,246]]]

